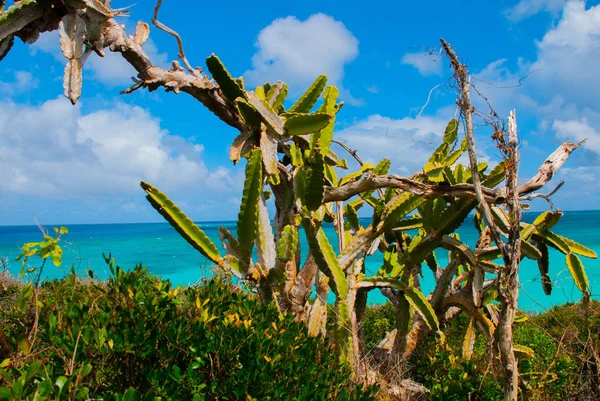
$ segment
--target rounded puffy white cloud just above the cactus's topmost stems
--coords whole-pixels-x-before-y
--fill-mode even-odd
[[[340,85],[344,66],[358,56],[358,40],[343,23],[325,14],[306,21],[279,18],[260,31],[252,69],[244,77],[254,84],[282,80],[302,90],[320,74]]]

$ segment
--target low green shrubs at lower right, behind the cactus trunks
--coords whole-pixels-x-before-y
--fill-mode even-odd
[[[593,359],[598,354],[600,303],[566,304],[538,315],[520,315],[515,342],[533,353],[519,353],[520,390],[527,400],[593,400]],[[364,317],[368,344],[394,325],[390,304],[367,308]],[[503,399],[498,360],[490,358],[483,337],[473,355],[464,357],[463,339],[469,325],[464,314],[444,326],[446,341],[426,339],[407,361],[405,375],[429,389],[434,400]]]

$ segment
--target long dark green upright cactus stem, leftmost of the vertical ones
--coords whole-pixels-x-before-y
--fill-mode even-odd
[[[256,238],[258,201],[262,192],[262,160],[260,149],[255,149],[246,165],[246,179],[238,214],[237,235],[240,256],[244,262],[252,256],[252,244]]]

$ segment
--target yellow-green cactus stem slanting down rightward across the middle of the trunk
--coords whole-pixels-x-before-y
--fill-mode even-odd
[[[342,270],[338,258],[327,239],[327,235],[321,227],[315,228],[312,221],[305,217],[302,220],[302,225],[306,231],[306,239],[310,247],[310,251],[315,259],[319,270],[329,277],[329,284],[333,292],[340,298],[345,300],[348,297],[348,282],[346,275]],[[345,302],[344,302],[345,303]]]

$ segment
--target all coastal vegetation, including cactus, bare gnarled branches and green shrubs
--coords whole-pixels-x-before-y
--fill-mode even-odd
[[[597,306],[581,259],[596,254],[553,231],[563,215],[550,201],[556,189],[540,192],[581,143],[562,144],[519,183],[516,114],[503,120],[477,110],[467,67],[441,40],[459,117],[440,133],[421,170],[389,174],[389,160],[364,163],[336,140],[343,102],[325,75],[295,99],[281,81],[246,87],[215,55],[206,59],[208,75],[190,66],[179,35],[158,20],[160,7],[158,1],[152,22],[177,38],[184,66],[153,65],[142,48],[148,24],[138,23],[129,36],[114,19],[123,10],[91,0],[15,3],[0,16],[0,58],[15,37],[31,43],[39,32],[58,29],[72,103],[81,94],[85,60],[105,48],[139,73],[124,93],[162,87],[193,96],[239,131],[230,149],[246,172],[237,230],[221,227],[217,246],[167,194],[142,182],[149,203],[214,263],[216,278],[172,289],[141,267],[124,272],[108,257],[113,275],[105,283],[72,274],[41,286],[5,286],[14,296],[2,298],[12,323],[0,333],[7,344],[0,399],[369,399],[372,386],[382,398],[597,394]],[[477,159],[476,118],[503,157],[494,166]],[[351,171],[336,150],[358,168]],[[536,197],[550,210],[531,224],[521,221]],[[371,215],[368,225],[359,209]],[[474,246],[456,233],[467,219],[479,232]],[[326,224],[337,241],[325,235]],[[60,264],[64,233],[26,244],[24,267],[30,257],[40,257],[41,267],[48,258]],[[537,261],[544,292],[552,291],[549,247],[564,255],[559,262],[583,295],[581,305],[556,312],[575,318],[573,310],[581,310],[586,317],[566,343],[554,315],[527,320],[518,311],[523,258]],[[441,252],[448,254],[443,264]],[[384,262],[367,275],[365,261],[376,253]],[[424,275],[435,283],[429,294],[422,291]],[[388,304],[369,308],[371,291]],[[577,395],[567,380],[577,374],[595,390]]]

